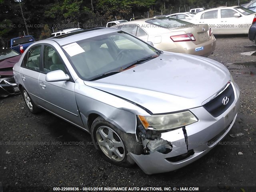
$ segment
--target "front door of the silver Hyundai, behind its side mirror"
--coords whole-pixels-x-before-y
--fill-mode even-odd
[[[43,72],[39,77],[40,97],[44,100],[43,108],[83,127],[76,98],[74,94],[75,83],[71,79],[68,81],[46,82],[45,77],[48,72],[62,70],[69,74],[63,60],[53,46],[44,45],[43,51]]]

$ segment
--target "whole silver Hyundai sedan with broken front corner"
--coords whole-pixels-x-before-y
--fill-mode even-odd
[[[240,90],[228,69],[163,52],[115,28],[35,42],[15,64],[28,110],[44,109],[91,134],[102,157],[146,174],[176,170],[232,128]]]

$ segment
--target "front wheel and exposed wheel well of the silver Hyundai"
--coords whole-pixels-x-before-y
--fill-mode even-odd
[[[141,142],[136,141],[135,134],[122,132],[102,117],[92,123],[91,136],[100,155],[112,164],[130,167],[135,162],[127,154],[142,154]]]

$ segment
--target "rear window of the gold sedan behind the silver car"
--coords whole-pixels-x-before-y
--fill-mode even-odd
[[[160,26],[163,28],[175,28],[175,27],[192,24],[190,22],[186,22],[186,21],[178,20],[178,19],[174,19],[174,18],[169,18],[169,17],[150,19],[150,20],[147,20],[146,23],[150,23],[150,24]]]

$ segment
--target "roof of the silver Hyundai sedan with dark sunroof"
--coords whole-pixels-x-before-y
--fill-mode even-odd
[[[83,39],[96,37],[112,32],[118,32],[119,29],[116,28],[94,28],[94,29],[88,29],[88,30],[80,30],[76,32],[71,32],[67,34],[58,35],[55,37],[48,38],[46,40],[53,40],[57,42],[60,46],[70,44],[76,41],[80,41]],[[41,43],[44,43],[44,40],[41,41]]]

